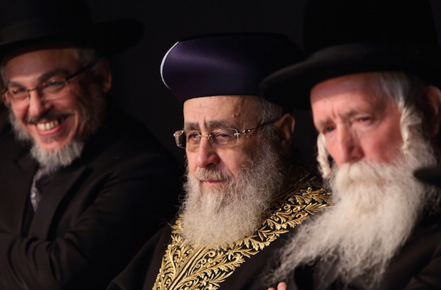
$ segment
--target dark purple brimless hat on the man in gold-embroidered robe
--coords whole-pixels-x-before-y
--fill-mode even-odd
[[[268,74],[303,60],[286,35],[244,32],[192,36],[164,55],[160,73],[179,101],[211,95],[258,95]]]

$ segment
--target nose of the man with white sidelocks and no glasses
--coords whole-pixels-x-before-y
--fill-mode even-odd
[[[344,163],[353,163],[363,157],[357,133],[348,127],[340,127],[337,129],[336,153],[331,156],[340,167]]]

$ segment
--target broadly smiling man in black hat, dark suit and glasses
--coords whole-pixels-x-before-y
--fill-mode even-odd
[[[106,97],[106,57],[132,19],[94,23],[82,0],[0,11],[0,289],[103,289],[175,212],[177,163]]]

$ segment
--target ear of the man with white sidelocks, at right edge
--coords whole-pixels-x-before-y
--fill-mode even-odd
[[[439,132],[441,124],[441,91],[433,85],[428,85],[422,91],[419,102],[424,113],[423,128],[431,138]]]

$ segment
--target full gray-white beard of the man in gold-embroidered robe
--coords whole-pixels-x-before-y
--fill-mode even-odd
[[[283,183],[280,156],[271,146],[260,146],[254,160],[238,178],[215,166],[187,173],[186,198],[180,209],[182,235],[198,246],[219,246],[240,240],[261,224],[264,212]],[[187,170],[188,172],[188,170]],[[215,177],[227,185],[206,188],[199,181]]]

